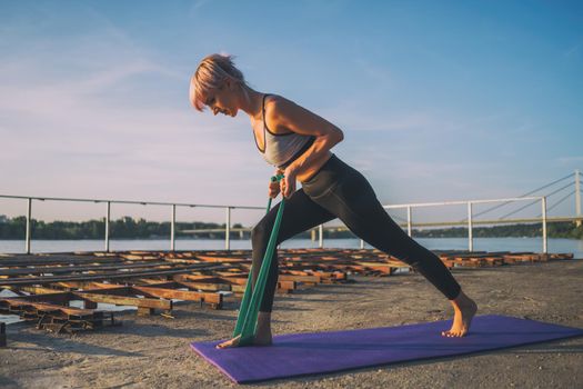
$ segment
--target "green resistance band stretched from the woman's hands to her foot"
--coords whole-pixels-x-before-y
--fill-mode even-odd
[[[272,182],[280,181],[281,179],[283,179],[283,174],[271,177]],[[263,300],[263,292],[265,290],[269,269],[271,267],[271,258],[275,250],[275,242],[278,240],[281,218],[283,216],[284,202],[285,197],[282,194],[280,208],[278,209],[278,215],[275,217],[275,222],[273,223],[273,229],[271,230],[271,236],[269,237],[268,249],[263,256],[263,262],[261,263],[261,269],[259,270],[259,276],[254,288],[251,287],[253,282],[253,267],[251,266],[249,269],[245,292],[243,295],[243,300],[241,301],[241,308],[239,309],[239,317],[237,318],[237,325],[233,332],[233,338],[238,337],[239,335],[241,336],[241,339],[239,340],[239,345],[241,346],[251,343],[255,336],[259,307]],[[271,197],[269,198],[267,212],[269,212],[270,209]]]

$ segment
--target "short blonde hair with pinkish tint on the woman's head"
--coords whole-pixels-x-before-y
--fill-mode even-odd
[[[229,54],[210,54],[199,63],[190,79],[190,102],[197,110],[204,109],[203,96],[222,87],[227,79],[247,84],[243,73],[235,68],[233,58]]]

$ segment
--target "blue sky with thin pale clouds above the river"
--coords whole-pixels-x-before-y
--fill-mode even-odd
[[[340,127],[333,151],[383,203],[513,197],[583,170],[579,1],[0,0],[0,193],[264,207],[273,169],[244,112],[189,106],[212,52]]]

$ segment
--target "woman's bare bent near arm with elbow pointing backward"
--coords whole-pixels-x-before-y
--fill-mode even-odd
[[[291,130],[316,137],[312,146],[285,169],[295,174],[344,139],[344,133],[336,126],[282,97],[271,99],[265,104],[265,122],[275,132]]]

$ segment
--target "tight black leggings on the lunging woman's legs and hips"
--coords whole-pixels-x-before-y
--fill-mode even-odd
[[[279,203],[251,232],[253,246],[253,283],[255,285]],[[376,249],[399,258],[423,275],[448,299],[461,287],[438,256],[409,237],[386,213],[364,176],[335,154],[302,188],[285,199],[277,243],[339,218],[358,237]],[[278,286],[278,252],[273,252],[260,311],[271,312]]]

